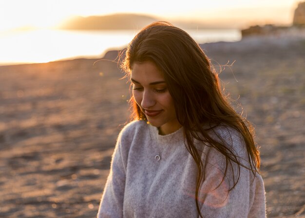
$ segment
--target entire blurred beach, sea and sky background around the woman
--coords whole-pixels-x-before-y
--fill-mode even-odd
[[[255,126],[267,217],[305,218],[298,0],[0,0],[0,217],[96,216],[130,114],[117,56],[156,20],[197,41]]]

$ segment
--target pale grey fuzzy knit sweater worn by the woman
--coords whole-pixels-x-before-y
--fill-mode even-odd
[[[249,166],[245,143],[237,131],[220,126],[210,136],[224,139],[239,161]],[[237,185],[228,192],[238,177],[237,164],[229,165],[223,180],[224,155],[202,142],[194,142],[202,151],[204,163],[204,179],[198,196],[202,215],[205,218],[265,218],[262,177],[240,167]],[[146,121],[133,121],[118,136],[97,216],[197,218],[197,173],[195,161],[184,144],[183,127],[162,136]]]

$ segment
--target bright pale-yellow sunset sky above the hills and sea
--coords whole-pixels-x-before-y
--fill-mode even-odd
[[[299,0],[0,0],[0,31],[49,28],[71,16],[148,14],[160,20],[194,20],[245,28],[289,25]]]

